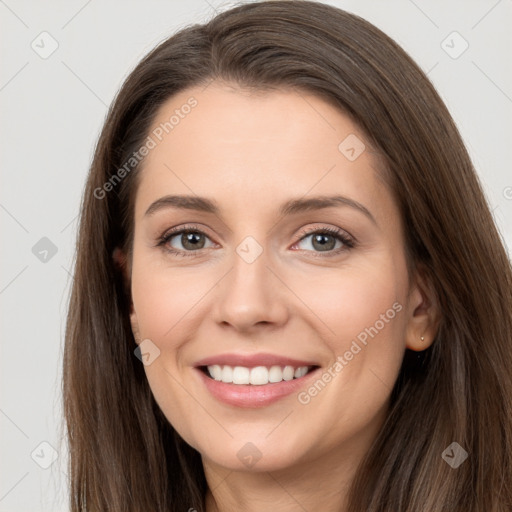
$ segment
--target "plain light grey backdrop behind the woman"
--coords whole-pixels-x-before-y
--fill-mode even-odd
[[[512,247],[512,0],[326,3],[377,25],[428,72]],[[158,42],[234,4],[0,0],[1,511],[67,510],[62,344],[80,197],[107,106]]]

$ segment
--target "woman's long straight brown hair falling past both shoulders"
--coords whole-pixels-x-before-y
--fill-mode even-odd
[[[409,263],[435,289],[436,339],[406,353],[349,510],[510,510],[512,272],[481,185],[411,58],[365,20],[309,1],[245,4],[180,30],[137,65],[109,110],[81,205],[66,329],[70,509],[204,510],[200,455],[166,420],[134,356],[129,289],[112,254],[131,248],[140,166],[114,175],[163,102],[212,79],[312,92],[350,115],[381,155]],[[456,469],[442,458],[453,442],[468,453]]]

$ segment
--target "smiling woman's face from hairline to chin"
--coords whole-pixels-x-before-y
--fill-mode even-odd
[[[131,320],[163,413],[229,469],[361,455],[423,334],[361,131],[314,95],[214,82],[149,136]]]

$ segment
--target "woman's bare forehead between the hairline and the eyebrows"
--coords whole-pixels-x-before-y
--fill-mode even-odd
[[[311,93],[215,82],[190,88],[160,107],[148,135],[154,147],[143,162],[136,216],[166,193],[214,195],[247,213],[335,192],[381,214],[390,206],[364,134]]]

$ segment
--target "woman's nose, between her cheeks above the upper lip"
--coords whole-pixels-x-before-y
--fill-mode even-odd
[[[286,287],[276,276],[276,270],[270,268],[269,260],[266,251],[252,262],[242,252],[233,254],[233,266],[218,285],[215,301],[218,324],[248,333],[286,323],[289,315]]]

